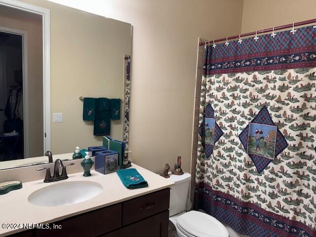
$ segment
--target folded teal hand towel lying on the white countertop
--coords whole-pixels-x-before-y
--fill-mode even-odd
[[[117,171],[120,181],[127,189],[138,189],[148,186],[147,181],[134,168],[119,169]]]

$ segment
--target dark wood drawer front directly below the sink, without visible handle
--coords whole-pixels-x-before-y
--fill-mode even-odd
[[[121,203],[54,223],[61,229],[36,230],[36,237],[96,237],[121,227]],[[52,226],[53,224],[50,224]]]

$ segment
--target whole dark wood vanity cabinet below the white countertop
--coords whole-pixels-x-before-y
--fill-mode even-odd
[[[19,237],[167,237],[170,189],[50,223]],[[53,229],[53,225],[61,229]]]

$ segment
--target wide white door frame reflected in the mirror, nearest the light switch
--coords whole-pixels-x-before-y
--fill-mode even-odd
[[[18,0],[0,0],[0,5],[42,16],[43,55],[43,141],[44,153],[51,149],[50,129],[50,10]],[[43,154],[44,155],[44,154]]]

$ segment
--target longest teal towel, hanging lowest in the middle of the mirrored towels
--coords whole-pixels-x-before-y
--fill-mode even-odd
[[[95,119],[93,127],[94,136],[110,135],[111,132],[111,111],[100,110],[100,99],[95,99]]]

